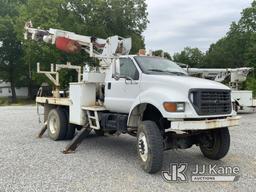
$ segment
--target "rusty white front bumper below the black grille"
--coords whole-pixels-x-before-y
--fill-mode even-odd
[[[167,131],[209,130],[223,127],[235,127],[239,125],[240,119],[240,116],[233,116],[225,119],[171,121],[171,127]]]

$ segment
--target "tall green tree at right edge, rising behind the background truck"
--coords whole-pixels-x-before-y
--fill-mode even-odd
[[[242,11],[240,20],[233,22],[229,32],[212,44],[206,54],[209,67],[256,67],[256,1]]]

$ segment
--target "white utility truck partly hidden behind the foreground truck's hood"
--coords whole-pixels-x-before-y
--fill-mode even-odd
[[[184,66],[184,65],[183,65]],[[206,68],[189,68],[186,67],[189,75],[200,75],[201,78],[217,82],[229,81],[231,88],[231,98],[237,112],[255,110],[256,100],[253,98],[253,92],[250,90],[240,90],[241,84],[246,81],[247,76],[253,68],[244,67],[236,69],[206,69]]]

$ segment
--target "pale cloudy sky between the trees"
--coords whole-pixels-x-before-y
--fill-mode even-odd
[[[171,54],[184,47],[208,50],[238,21],[252,0],[146,0],[149,21],[146,48]]]

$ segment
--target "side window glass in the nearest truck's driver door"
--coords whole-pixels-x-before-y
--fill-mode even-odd
[[[129,58],[120,58],[120,75],[139,80],[139,71]]]

